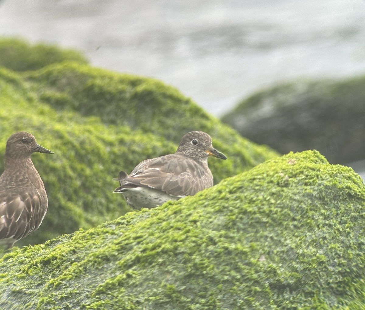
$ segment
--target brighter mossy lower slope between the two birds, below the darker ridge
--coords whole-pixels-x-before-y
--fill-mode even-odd
[[[176,148],[152,134],[105,126],[96,117],[56,112],[37,102],[20,80],[9,82],[9,75],[0,71],[0,171],[6,140],[16,131],[33,133],[39,143],[55,152],[32,156],[45,183],[49,210],[41,228],[18,246],[44,242],[80,227],[90,228],[130,211],[124,199],[112,193],[118,185],[112,178],[121,169],[131,170],[145,156]]]

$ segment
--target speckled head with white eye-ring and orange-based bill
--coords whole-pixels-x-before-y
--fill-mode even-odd
[[[176,153],[183,154],[197,161],[206,161],[208,156],[227,159],[224,154],[213,148],[212,138],[207,133],[200,131],[193,131],[185,134]]]

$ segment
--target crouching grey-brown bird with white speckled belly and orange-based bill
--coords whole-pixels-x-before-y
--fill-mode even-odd
[[[208,156],[227,159],[204,132],[185,134],[176,152],[140,162],[131,174],[119,172],[121,193],[134,209],[154,208],[169,200],[192,196],[213,186]]]

